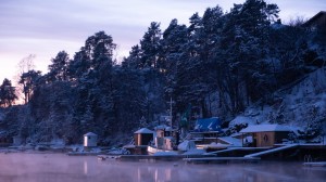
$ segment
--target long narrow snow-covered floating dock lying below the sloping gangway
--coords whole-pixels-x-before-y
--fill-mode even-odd
[[[187,162],[192,164],[229,164],[229,162],[258,162],[258,157],[205,157],[205,158],[184,158]]]

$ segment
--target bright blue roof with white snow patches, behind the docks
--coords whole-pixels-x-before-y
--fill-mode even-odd
[[[196,121],[195,131],[221,131],[221,120],[217,117],[198,119]]]

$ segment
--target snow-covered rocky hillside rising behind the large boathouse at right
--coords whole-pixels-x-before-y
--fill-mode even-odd
[[[274,93],[272,105],[251,105],[230,121],[235,128],[256,123],[289,125],[316,139],[326,134],[326,69],[321,68]],[[318,140],[318,139],[316,139]]]

